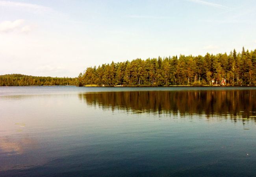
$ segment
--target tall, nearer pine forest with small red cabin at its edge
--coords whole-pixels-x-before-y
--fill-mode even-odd
[[[223,79],[225,85],[256,85],[256,50],[112,62],[87,68],[78,86],[211,85]]]

